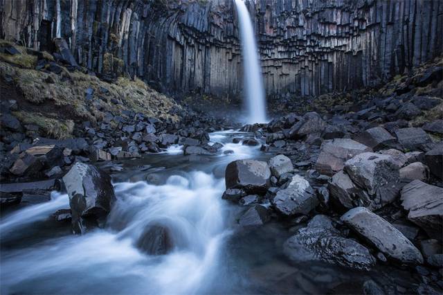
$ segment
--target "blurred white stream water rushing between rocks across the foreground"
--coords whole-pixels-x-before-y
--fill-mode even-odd
[[[232,143],[238,136],[244,134],[210,134],[231,154],[183,157],[176,146],[118,163],[125,169],[112,174],[117,202],[107,224],[85,235],[72,235],[69,222],[51,217],[69,208],[66,194],[53,192],[50,202],[2,212],[0,293],[325,294],[341,282],[394,276],[386,268],[363,273],[319,263],[291,265],[282,244],[293,225],[239,226],[237,218],[247,208],[221,199],[226,165],[269,155]],[[101,168],[109,171],[110,165],[116,163]],[[153,225],[170,232],[174,247],[165,255],[138,247]],[[399,276],[410,280],[410,274]]]

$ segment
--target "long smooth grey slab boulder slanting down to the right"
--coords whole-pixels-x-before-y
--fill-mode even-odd
[[[405,263],[423,263],[422,253],[408,238],[367,208],[352,208],[341,220],[386,255]]]

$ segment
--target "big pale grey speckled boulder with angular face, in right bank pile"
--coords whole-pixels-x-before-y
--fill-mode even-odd
[[[370,195],[386,189],[386,185],[397,183],[400,177],[399,166],[392,157],[374,152],[364,152],[347,160],[345,172],[354,184]]]

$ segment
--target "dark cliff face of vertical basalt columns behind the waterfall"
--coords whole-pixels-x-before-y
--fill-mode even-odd
[[[442,54],[440,0],[256,0],[266,93],[318,95],[404,73]],[[233,0],[0,0],[2,38],[174,92],[237,96],[242,60]]]

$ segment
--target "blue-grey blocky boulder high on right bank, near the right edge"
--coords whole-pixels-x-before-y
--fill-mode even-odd
[[[395,132],[395,135],[404,150],[422,150],[425,152],[430,150],[429,147],[432,143],[431,137],[429,137],[422,128],[401,128]]]

